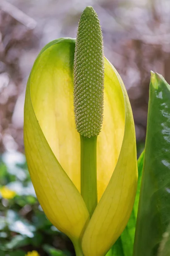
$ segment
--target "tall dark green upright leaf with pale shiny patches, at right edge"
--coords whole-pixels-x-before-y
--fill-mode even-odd
[[[170,223],[170,85],[151,74],[134,256],[155,256]]]

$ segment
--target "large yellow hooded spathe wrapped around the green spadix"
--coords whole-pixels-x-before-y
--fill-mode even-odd
[[[85,10],[89,15],[90,9]],[[100,99],[104,108],[103,113],[99,113],[100,123],[96,130],[92,125],[89,133],[79,123],[75,124],[74,107],[81,102],[74,98],[74,51],[75,39],[59,38],[47,44],[34,63],[24,107],[26,158],[45,215],[72,240],[77,256],[104,256],[124,230],[136,194],[133,115],[122,79],[104,58],[103,102]],[[83,65],[81,55],[76,56],[75,62],[80,61]],[[79,90],[84,97],[85,89]],[[79,122],[79,112],[77,115],[76,122]],[[81,118],[83,116],[80,122]],[[76,126],[81,136],[86,136],[87,132],[87,138],[84,137],[87,140],[99,134],[96,145],[97,206],[92,212],[80,194],[80,138]]]

